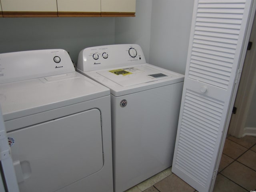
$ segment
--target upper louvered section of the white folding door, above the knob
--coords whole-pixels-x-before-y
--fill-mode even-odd
[[[234,61],[245,6],[243,2],[237,2],[199,2],[191,56],[196,56],[204,64],[194,62],[191,57],[189,78],[223,89],[228,88],[231,70],[227,68],[222,72],[218,61],[224,67],[232,68],[230,64]],[[208,63],[206,59],[215,62]],[[202,65],[210,68],[202,68]]]

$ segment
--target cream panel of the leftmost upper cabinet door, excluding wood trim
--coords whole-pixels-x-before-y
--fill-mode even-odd
[[[3,11],[56,12],[56,0],[1,0]]]

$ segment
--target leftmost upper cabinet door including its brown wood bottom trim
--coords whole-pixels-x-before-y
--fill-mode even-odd
[[[56,0],[1,0],[4,17],[57,16]]]

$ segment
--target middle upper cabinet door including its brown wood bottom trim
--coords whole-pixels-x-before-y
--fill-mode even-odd
[[[100,16],[100,0],[57,0],[58,16]]]

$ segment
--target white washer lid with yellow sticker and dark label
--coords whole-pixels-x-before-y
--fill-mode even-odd
[[[149,65],[120,67],[111,70],[98,71],[97,73],[124,87],[154,82],[174,76],[174,74],[168,71],[163,72],[152,68]]]

